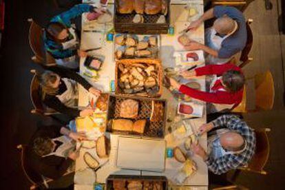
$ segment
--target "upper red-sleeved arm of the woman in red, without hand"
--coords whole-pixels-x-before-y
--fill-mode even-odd
[[[208,75],[208,74],[217,74],[222,75],[224,72],[228,70],[239,70],[240,67],[232,63],[224,63],[222,65],[206,65],[204,67],[198,67],[195,72],[196,76]]]

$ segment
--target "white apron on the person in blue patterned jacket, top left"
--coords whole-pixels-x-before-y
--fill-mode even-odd
[[[70,41],[65,41],[63,43],[61,43],[61,45],[63,45],[63,50],[67,50],[67,49],[77,49],[77,45],[79,43],[78,37],[76,35],[76,32],[74,30],[74,28],[69,28],[68,31],[70,32],[70,34],[72,34],[73,38]],[[74,56],[70,56],[67,57],[65,59],[56,59],[56,64],[61,65],[63,67],[68,67],[71,69],[76,69],[79,67],[79,59],[77,55]]]

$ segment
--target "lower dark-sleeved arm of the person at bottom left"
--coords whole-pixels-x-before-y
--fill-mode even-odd
[[[73,160],[70,158],[65,159],[59,156],[47,156],[43,158],[39,170],[43,176],[56,180],[63,176],[72,162]]]

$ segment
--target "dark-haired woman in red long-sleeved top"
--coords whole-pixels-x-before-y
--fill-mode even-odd
[[[209,112],[220,112],[233,109],[242,102],[244,91],[244,75],[240,67],[232,63],[223,65],[206,65],[190,72],[182,72],[183,78],[191,79],[195,76],[213,75],[209,92],[202,92],[186,85],[180,85],[173,78],[169,78],[171,86],[181,93],[192,98],[205,101],[209,104]]]

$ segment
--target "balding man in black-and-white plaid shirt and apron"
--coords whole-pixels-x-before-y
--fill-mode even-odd
[[[216,129],[218,127],[223,128]],[[196,143],[191,145],[191,149],[215,174],[246,166],[255,154],[255,132],[235,115],[220,116],[198,130],[200,134],[210,131],[207,152]]]

